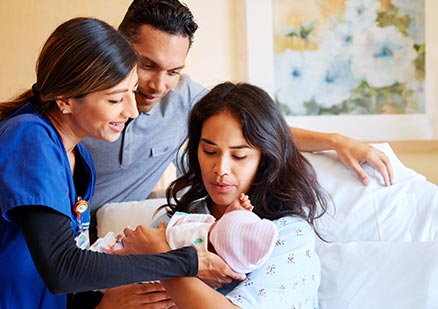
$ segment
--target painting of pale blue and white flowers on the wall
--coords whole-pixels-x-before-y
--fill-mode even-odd
[[[273,0],[286,115],[425,113],[424,0]]]

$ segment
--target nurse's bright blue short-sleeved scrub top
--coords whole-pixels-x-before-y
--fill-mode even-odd
[[[76,168],[84,169],[81,175],[86,175],[82,198],[89,201],[95,182],[92,158],[82,144],[76,153],[83,162]],[[65,148],[46,117],[29,103],[0,123],[0,308],[66,307],[66,296],[53,295],[42,281],[8,211],[23,205],[50,207],[71,218],[76,236],[79,227],[73,205],[77,197]],[[87,229],[89,209],[81,220]]]

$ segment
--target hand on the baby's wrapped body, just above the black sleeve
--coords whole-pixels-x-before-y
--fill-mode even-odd
[[[139,225],[135,229],[129,227],[123,230],[123,249],[114,251],[117,254],[153,254],[170,250],[166,241],[166,226],[160,222],[158,227],[152,228]]]

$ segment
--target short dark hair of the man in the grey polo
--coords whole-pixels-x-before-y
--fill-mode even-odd
[[[151,25],[172,35],[187,37],[189,46],[192,45],[193,35],[198,29],[192,12],[178,0],[134,0],[119,30],[135,42],[142,25]]]

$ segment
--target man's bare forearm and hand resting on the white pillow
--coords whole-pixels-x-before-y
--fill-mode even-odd
[[[365,162],[379,171],[385,185],[392,184],[391,162],[380,150],[336,133],[322,133],[292,127],[290,130],[300,151],[335,150],[342,163],[353,170],[364,185],[369,183],[369,177],[361,166]]]

